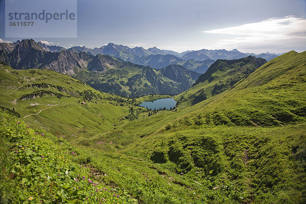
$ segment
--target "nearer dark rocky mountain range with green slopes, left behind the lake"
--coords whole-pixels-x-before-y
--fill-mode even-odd
[[[125,97],[179,94],[190,88],[200,75],[181,65],[155,70],[107,55],[69,50],[47,52],[32,39],[22,40],[10,53],[1,50],[0,60],[15,69],[52,69],[98,90]]]

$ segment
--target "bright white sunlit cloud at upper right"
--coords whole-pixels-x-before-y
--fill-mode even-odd
[[[233,35],[232,38],[219,39],[218,46],[223,48],[278,47],[292,49],[306,45],[306,19],[295,16],[269,18],[261,22],[247,23],[235,27],[203,31],[203,33]]]

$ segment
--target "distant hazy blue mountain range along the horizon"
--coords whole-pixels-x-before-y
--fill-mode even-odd
[[[1,43],[0,50],[4,49],[6,53],[12,52],[14,47],[20,43],[16,41],[14,43]],[[66,50],[64,47],[56,45],[47,45],[39,41],[38,44],[47,52],[59,52]],[[151,47],[145,49],[143,47],[130,48],[124,45],[117,45],[109,43],[107,45],[95,48],[87,48],[85,46],[74,46],[67,49],[70,52],[80,53],[85,52],[88,55],[110,55],[115,58],[120,58],[124,61],[130,61],[134,64],[140,64],[144,66],[150,66],[155,69],[167,67],[171,64],[179,64],[186,69],[196,71],[198,73],[205,73],[209,66],[217,59],[239,59],[247,57],[249,55],[264,58],[267,61],[275,58],[278,54],[263,53],[260,55],[241,53],[237,49],[227,51],[225,49],[201,49],[201,50],[188,50],[183,53],[177,53],[172,50],[159,49],[157,47]],[[0,53],[0,55],[2,55]],[[4,56],[2,57],[4,58]]]

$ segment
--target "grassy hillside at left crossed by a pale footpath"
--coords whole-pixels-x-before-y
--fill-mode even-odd
[[[1,106],[14,108],[29,124],[73,143],[89,145],[89,138],[112,131],[115,123],[131,114],[135,104],[52,70],[0,66]],[[86,103],[81,104],[83,101]],[[140,107],[135,110],[145,111]]]

